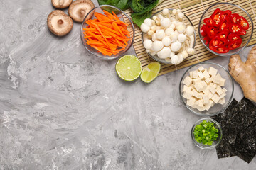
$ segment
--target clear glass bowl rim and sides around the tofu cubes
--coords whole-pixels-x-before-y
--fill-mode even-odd
[[[210,67],[214,67],[215,69],[218,69],[218,73],[220,73],[221,77],[226,79],[225,86],[224,86],[225,89],[227,89],[226,96],[225,96],[225,103],[223,105],[215,104],[213,107],[211,107],[209,109],[209,111],[198,111],[198,109],[192,108],[191,106],[188,106],[187,103],[186,103],[187,99],[183,98],[183,96],[182,96],[182,89],[183,89],[183,86],[184,86],[184,84],[182,83],[183,80],[185,79],[186,76],[189,76],[189,72],[194,71],[194,70],[198,69],[201,66],[203,68],[207,68],[207,69],[210,68]],[[223,111],[225,111],[225,109],[228,108],[230,102],[232,101],[233,93],[234,93],[234,81],[233,81],[231,75],[229,74],[228,70],[226,70],[221,65],[215,64],[213,62],[201,62],[201,63],[194,64],[193,66],[189,67],[186,70],[186,72],[183,74],[183,76],[181,77],[180,84],[179,84],[179,93],[180,93],[180,96],[181,96],[181,100],[183,101],[185,106],[188,108],[188,110],[191,111],[192,113],[194,113],[196,115],[201,115],[201,116],[218,115],[219,113],[222,113]]]

